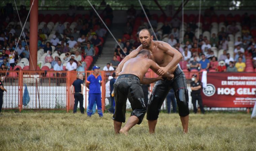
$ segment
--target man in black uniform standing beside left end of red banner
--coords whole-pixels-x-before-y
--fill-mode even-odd
[[[198,101],[201,113],[204,114],[204,109],[203,109],[203,103],[202,103],[202,97],[200,95],[201,88],[202,88],[202,83],[197,80],[197,75],[194,74],[192,75],[191,78],[192,82],[190,83],[191,86],[191,97],[192,97],[192,103],[193,103],[193,108],[194,108],[194,113],[197,112],[197,107],[196,107],[196,100]]]

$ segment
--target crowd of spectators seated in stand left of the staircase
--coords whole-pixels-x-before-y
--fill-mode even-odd
[[[104,12],[102,12],[103,19],[112,20],[112,9],[109,5],[105,7]],[[101,55],[107,31],[100,19],[92,11],[90,14],[76,15],[73,9],[74,7],[70,7],[67,14],[62,14],[59,17],[59,21],[53,22],[53,18],[59,16],[58,14],[45,15],[45,18],[52,17],[51,21],[45,18],[43,21],[39,21],[37,64],[40,68],[47,65],[49,69],[58,71],[85,71]],[[40,14],[39,16],[43,15]],[[67,17],[67,19],[64,18],[65,21],[61,19],[63,16]],[[75,19],[71,18],[71,21],[68,20],[69,17]],[[9,69],[13,69],[15,65],[21,66],[21,68],[27,66],[30,58],[29,26],[25,26],[19,40],[22,29],[17,17],[14,14],[1,14],[0,21],[3,23],[0,29],[0,66],[4,64],[5,67],[8,67],[10,64]],[[21,21],[25,22],[24,17],[21,18]],[[93,58],[88,67],[87,56]],[[21,65],[19,63],[23,58],[26,58],[27,61],[22,62],[24,64]],[[6,69],[5,67],[3,69]]]

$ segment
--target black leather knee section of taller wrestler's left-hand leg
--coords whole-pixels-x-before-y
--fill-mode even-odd
[[[160,97],[151,94],[147,109],[147,120],[156,120],[158,118],[160,109],[158,108],[157,100],[160,100]]]

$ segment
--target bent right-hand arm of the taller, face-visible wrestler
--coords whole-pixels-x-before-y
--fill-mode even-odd
[[[172,57],[172,60],[165,67],[160,67],[157,71],[158,75],[164,75],[180,62],[182,54],[178,50],[172,48],[168,43],[162,42],[158,45],[158,48],[165,51],[166,54]]]

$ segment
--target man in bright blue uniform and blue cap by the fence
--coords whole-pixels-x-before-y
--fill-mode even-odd
[[[101,75],[99,75],[99,68],[98,66],[94,66],[93,73],[89,75],[86,81],[86,87],[89,89],[89,105],[88,105],[88,111],[87,116],[92,116],[92,109],[94,102],[96,102],[98,114],[99,117],[103,116],[102,110],[101,110],[101,91],[100,86],[102,84],[102,78]]]

